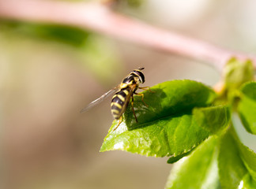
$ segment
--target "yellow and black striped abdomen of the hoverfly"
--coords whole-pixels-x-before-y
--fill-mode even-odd
[[[111,101],[111,113],[116,120],[122,116],[126,110],[127,104],[130,101],[132,91],[130,87],[126,87],[115,93]]]

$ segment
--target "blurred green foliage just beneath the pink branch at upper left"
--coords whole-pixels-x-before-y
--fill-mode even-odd
[[[77,58],[77,62],[82,62],[82,68],[86,72],[95,76],[104,85],[111,83],[112,87],[112,83],[117,84],[115,82],[117,75],[112,73],[122,71],[118,50],[110,40],[103,36],[64,25],[21,23],[11,20],[1,20],[0,28],[9,35],[71,46],[73,56]]]

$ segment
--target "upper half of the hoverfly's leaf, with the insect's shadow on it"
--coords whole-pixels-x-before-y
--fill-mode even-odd
[[[193,80],[167,81],[151,87],[151,91],[153,93],[143,92],[145,103],[141,101],[141,96],[134,96],[137,123],[131,106],[128,106],[124,115],[129,129],[141,128],[141,124],[160,118],[191,114],[194,107],[209,106],[216,97],[212,89]]]

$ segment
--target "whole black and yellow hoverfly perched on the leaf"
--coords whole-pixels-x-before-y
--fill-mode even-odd
[[[136,91],[137,89],[146,90],[150,88],[149,87],[139,87],[140,83],[145,82],[145,76],[141,70],[144,68],[134,69],[132,72],[129,73],[128,76],[126,76],[122,83],[119,84],[118,87],[115,87],[111,89],[110,91],[107,91],[104,95],[102,95],[100,98],[97,98],[95,101],[92,101],[88,104],[84,109],[81,109],[81,113],[87,111],[92,106],[95,106],[96,104],[102,102],[104,98],[107,98],[107,96],[113,94],[115,92],[115,95],[112,98],[111,101],[111,113],[115,120],[119,120],[119,124],[122,123],[122,113],[126,111],[126,108],[131,100],[131,106],[133,109],[134,117],[137,122],[137,117],[134,111],[134,95],[141,95],[141,100],[143,101],[144,95],[138,94]],[[145,104],[145,102],[144,102]],[[148,106],[145,104],[145,106]],[[116,128],[119,127],[119,124],[114,128],[113,131],[115,131]]]

